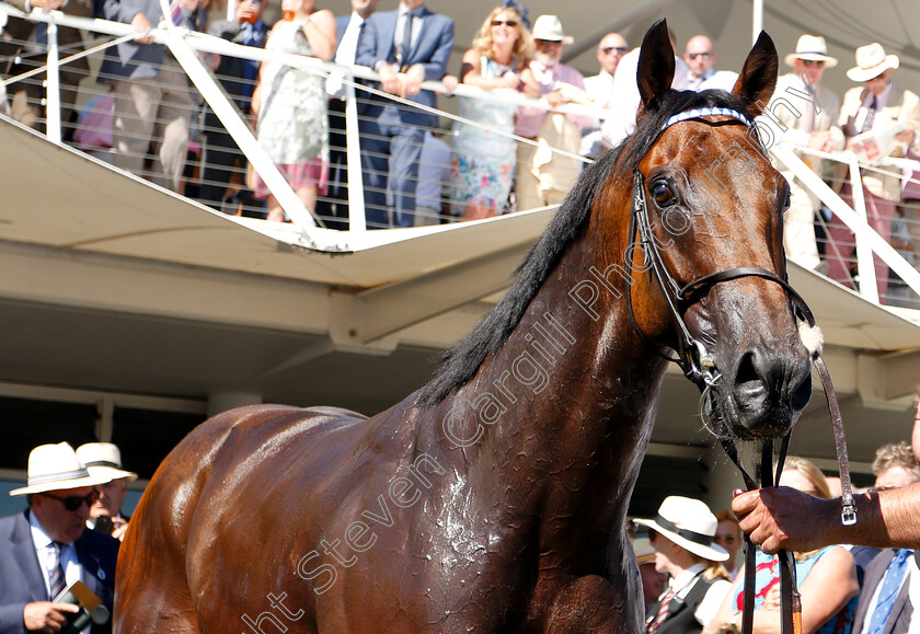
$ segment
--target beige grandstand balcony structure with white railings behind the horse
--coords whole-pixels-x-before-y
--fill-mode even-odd
[[[344,12],[347,3],[337,4],[333,8]],[[549,2],[545,8],[528,4],[531,18],[552,12]],[[576,34],[570,64],[580,66],[580,58],[584,70],[591,72],[593,47],[603,33],[629,31],[630,42],[637,42],[651,21],[664,15],[677,15],[681,28],[699,25],[701,32],[713,32],[714,9],[701,4],[640,3],[623,9],[601,30],[597,20],[566,18],[566,28]],[[747,11],[743,33],[732,26],[745,22],[736,9],[723,11],[725,22],[715,33],[720,65],[728,68],[733,50],[743,59],[749,46],[750,8],[725,4]],[[770,3],[764,19],[768,27],[771,20],[782,26],[777,41],[783,50],[792,48],[783,43],[794,42],[800,32],[792,28],[801,24],[789,16],[781,22],[775,14],[781,4]],[[488,8],[491,3],[475,0],[469,13],[485,15]],[[127,25],[99,20],[60,14],[33,19],[97,33],[95,42],[103,46],[106,38],[127,33]],[[465,35],[475,26],[475,20],[458,21],[458,42],[469,39]],[[271,173],[273,165],[197,51],[255,58],[268,54],[241,51],[171,27],[156,36],[226,117],[225,126],[249,161],[261,174]],[[828,39],[832,46],[843,41]],[[577,48],[579,42],[587,47]],[[60,57],[66,59],[67,51]],[[917,58],[905,61],[906,71],[912,72]],[[291,64],[318,73],[331,69],[312,60]],[[367,69],[338,70],[357,80],[373,78]],[[360,83],[349,85],[350,99],[363,99]],[[104,90],[90,78],[83,88],[96,94]],[[426,89],[442,87],[428,83]],[[464,87],[458,94],[499,99]],[[418,389],[433,372],[438,351],[469,332],[501,298],[516,264],[554,212],[519,209],[485,220],[372,230],[363,219],[358,170],[349,181],[354,197],[344,231],[318,227],[284,183],[277,191],[290,223],[225,214],[113,168],[105,151],[61,142],[61,126],[68,124],[54,120],[56,100],[49,91],[46,134],[0,115],[0,425],[7,439],[0,480],[8,488],[24,481],[27,451],[41,442],[114,441],[125,464],[141,473],[137,486],[142,487],[184,434],[207,415],[232,406],[334,405],[368,415],[389,407]],[[453,108],[450,99],[441,101],[447,123]],[[352,164],[357,164],[358,152],[355,123],[348,122]],[[777,146],[774,158],[789,169],[804,168],[789,148]],[[827,158],[853,160],[847,153]],[[905,168],[909,165],[878,166]],[[804,170],[803,177],[808,177]],[[859,174],[856,165],[851,176]],[[194,178],[193,170],[189,183]],[[865,484],[876,447],[909,438],[912,397],[920,383],[920,311],[910,301],[901,308],[879,303],[871,284],[872,254],[918,295],[920,274],[865,226],[864,210],[846,207],[817,181],[813,191],[828,212],[858,229],[861,290],[794,262],[790,281],[825,333],[853,471],[858,483]],[[819,381],[814,385],[791,451],[833,471],[830,424]],[[740,485],[721,449],[701,429],[698,402],[695,387],[679,371],[669,371],[634,496],[636,515],[651,515],[666,494],[700,497],[713,508],[727,506],[731,489]]]

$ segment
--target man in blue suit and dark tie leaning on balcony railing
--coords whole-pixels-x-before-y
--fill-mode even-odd
[[[396,11],[375,13],[367,20],[355,62],[376,70],[384,92],[435,107],[435,94],[422,91],[421,85],[425,80],[444,79],[452,47],[453,20],[428,11],[424,0],[401,0]],[[373,96],[359,114],[368,227],[390,224],[388,178],[393,192],[393,224],[412,227],[418,158],[426,128],[437,127],[437,116]]]

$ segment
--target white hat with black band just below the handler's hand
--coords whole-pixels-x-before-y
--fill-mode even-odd
[[[728,558],[728,552],[725,549],[712,543],[718,520],[699,499],[671,495],[666,497],[658,507],[658,517],[633,521],[647,526],[704,560],[724,562]]]

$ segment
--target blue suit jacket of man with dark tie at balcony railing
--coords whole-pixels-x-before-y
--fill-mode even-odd
[[[367,19],[364,32],[358,39],[358,50],[355,62],[376,70],[378,61],[395,65],[395,44],[399,11],[378,12]],[[453,48],[453,20],[446,15],[433,13],[426,7],[422,8],[422,28],[418,32],[405,66],[421,65],[425,69],[425,80],[439,81],[447,74],[447,62]],[[372,97],[382,99],[382,97]],[[407,96],[430,107],[435,107],[437,99],[433,92],[423,90],[417,95]],[[393,102],[389,102],[392,104]],[[389,106],[388,106],[389,107]],[[368,112],[368,116],[373,116]],[[406,124],[434,125],[433,116],[419,111],[400,108],[400,119]]]

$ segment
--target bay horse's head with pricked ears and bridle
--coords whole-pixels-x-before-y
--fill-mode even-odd
[[[810,396],[809,353],[791,301],[797,296],[784,281],[789,185],[754,125],[777,68],[777,49],[762,33],[732,94],[671,91],[674,53],[660,22],[645,36],[637,72],[632,154],[642,158],[630,244],[654,247],[632,257],[647,270],[630,293],[635,321],[678,350],[716,430],[746,438],[785,434]],[[654,299],[637,306],[643,284],[655,287]]]

